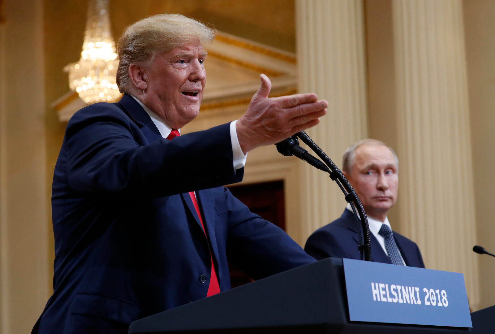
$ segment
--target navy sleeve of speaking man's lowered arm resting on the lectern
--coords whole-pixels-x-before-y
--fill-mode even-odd
[[[264,278],[315,262],[287,233],[251,213],[228,189],[225,197],[228,260],[251,278]]]

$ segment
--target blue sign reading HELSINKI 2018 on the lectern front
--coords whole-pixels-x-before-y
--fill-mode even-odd
[[[473,327],[464,275],[343,259],[351,321]]]

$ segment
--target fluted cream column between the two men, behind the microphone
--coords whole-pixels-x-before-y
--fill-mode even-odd
[[[307,131],[338,167],[354,141],[367,136],[366,66],[361,0],[297,0],[299,92],[329,102],[328,114]],[[340,217],[346,201],[328,174],[298,165],[300,237]]]

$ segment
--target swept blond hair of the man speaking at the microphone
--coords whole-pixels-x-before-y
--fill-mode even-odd
[[[148,66],[155,55],[199,39],[202,45],[211,43],[215,31],[203,23],[181,14],[158,14],[144,18],[124,29],[117,43],[119,66],[117,86],[121,93],[132,89],[129,66]]]

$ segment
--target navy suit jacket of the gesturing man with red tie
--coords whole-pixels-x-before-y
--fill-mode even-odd
[[[221,291],[227,260],[255,279],[313,262],[218,187],[242,176],[229,124],[169,141],[129,95],[76,112],[53,175],[54,292],[33,332],[127,333],[136,319],[203,298],[209,248]]]

